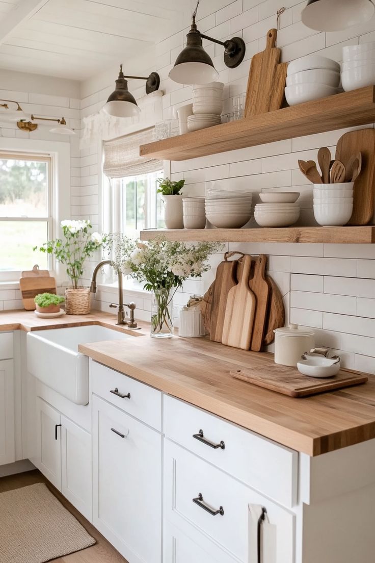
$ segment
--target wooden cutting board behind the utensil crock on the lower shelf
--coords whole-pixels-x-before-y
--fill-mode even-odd
[[[338,140],[336,159],[345,166],[357,153],[362,154],[362,169],[354,182],[353,214],[347,225],[367,225],[374,215],[375,129],[349,131]]]

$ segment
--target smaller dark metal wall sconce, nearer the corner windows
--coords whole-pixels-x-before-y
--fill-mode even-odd
[[[126,78],[134,78],[135,80],[146,80],[146,94],[159,90],[160,78],[159,74],[152,72],[149,77],[143,76],[125,76],[123,73],[123,65],[120,65],[119,78],[116,80],[116,89],[109,96],[107,103],[103,106],[103,110],[113,117],[134,117],[139,111],[134,96],[128,90],[128,81]]]

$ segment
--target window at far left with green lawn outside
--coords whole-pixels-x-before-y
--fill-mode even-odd
[[[51,157],[0,152],[0,271],[48,269],[34,252],[52,236]]]

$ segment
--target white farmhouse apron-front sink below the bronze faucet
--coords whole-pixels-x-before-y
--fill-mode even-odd
[[[35,330],[27,334],[29,373],[77,405],[89,402],[89,359],[78,345],[124,340],[129,334],[110,328],[88,327]]]

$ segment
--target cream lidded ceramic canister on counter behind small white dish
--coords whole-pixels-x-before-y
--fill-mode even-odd
[[[304,352],[315,347],[315,334],[310,328],[301,328],[297,324],[276,328],[275,364],[296,366]]]

